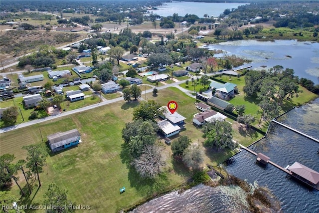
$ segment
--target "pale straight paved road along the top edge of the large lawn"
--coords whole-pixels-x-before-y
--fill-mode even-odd
[[[207,75],[211,76],[211,75],[213,75],[213,73],[209,73]],[[197,76],[197,77],[200,78],[201,76]],[[174,83],[171,83],[171,84],[163,85],[163,86],[158,87],[158,90],[162,90],[162,89],[165,89],[167,87],[181,88],[178,85],[181,84],[181,83],[184,83],[185,81],[186,80],[182,80],[182,81],[174,82]],[[188,90],[182,89],[182,91],[185,92],[187,95],[192,96],[189,93]],[[149,89],[149,90],[146,90],[146,91],[142,91],[142,96],[145,93],[151,93],[151,92],[153,92],[153,88]],[[0,133],[4,133],[4,132],[11,131],[11,130],[27,127],[27,126],[30,126],[30,125],[33,125],[33,124],[37,124],[37,123],[42,123],[42,122],[45,122],[45,121],[50,121],[50,120],[53,120],[55,118],[60,118],[60,117],[72,115],[72,114],[75,114],[75,113],[83,112],[83,111],[86,111],[86,110],[94,109],[94,108],[97,108],[97,107],[100,107],[100,106],[105,106],[105,105],[108,105],[108,104],[111,104],[111,103],[115,103],[115,102],[118,102],[118,101],[123,101],[123,100],[124,100],[123,97],[119,97],[119,98],[115,98],[115,99],[112,99],[112,100],[102,101],[100,103],[93,104],[93,105],[90,105],[90,106],[82,107],[82,108],[79,108],[79,109],[75,109],[75,110],[71,110],[71,111],[64,111],[64,112],[62,112],[62,113],[60,113],[59,115],[56,115],[56,116],[48,116],[48,117],[45,117],[45,118],[28,121],[28,122],[21,123],[21,124],[18,124],[18,125],[1,128],[0,129]]]

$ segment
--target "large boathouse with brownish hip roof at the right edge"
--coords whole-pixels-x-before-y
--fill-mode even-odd
[[[312,170],[298,162],[291,165],[288,170],[290,171],[291,176],[319,190],[319,173],[315,170]]]

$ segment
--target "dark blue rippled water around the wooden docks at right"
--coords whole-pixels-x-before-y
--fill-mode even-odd
[[[319,138],[319,99],[295,108],[277,120]],[[264,153],[284,168],[298,161],[319,172],[319,143],[278,124],[272,124],[267,137],[250,148]],[[248,179],[249,182],[257,180],[260,185],[268,186],[282,202],[286,213],[319,212],[319,191],[297,182],[272,165],[263,168],[255,162],[254,155],[242,151],[232,158],[232,163],[225,169],[238,178]]]

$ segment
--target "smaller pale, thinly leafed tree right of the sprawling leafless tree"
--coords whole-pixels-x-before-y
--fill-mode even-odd
[[[183,161],[187,167],[192,170],[200,168],[200,164],[204,161],[204,152],[198,144],[191,144],[184,150]]]

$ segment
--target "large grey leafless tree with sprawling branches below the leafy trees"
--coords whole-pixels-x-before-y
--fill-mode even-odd
[[[162,150],[158,145],[148,145],[143,149],[141,157],[132,162],[143,178],[155,178],[166,167],[166,157]]]

